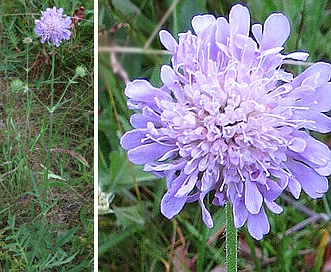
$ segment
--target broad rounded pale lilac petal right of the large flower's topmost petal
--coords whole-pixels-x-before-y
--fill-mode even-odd
[[[290,23],[288,19],[280,13],[271,14],[265,21],[261,50],[282,46],[290,35]]]

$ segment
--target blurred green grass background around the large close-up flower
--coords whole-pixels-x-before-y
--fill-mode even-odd
[[[164,19],[161,27],[176,37],[191,28],[193,15],[212,12],[227,16],[235,2],[99,1],[98,169],[103,192],[99,193],[103,200],[98,222],[99,271],[218,271],[225,267],[224,209],[212,207],[215,227],[210,230],[203,225],[196,203],[186,205],[168,221],[159,209],[165,181],[131,165],[119,139],[131,128],[125,82],[147,78],[161,86],[160,66],[170,63],[170,56],[158,51],[164,49],[158,36],[152,35],[159,22]],[[263,22],[275,11],[287,15],[292,30],[284,52],[308,51],[311,62],[331,59],[331,48],[326,46],[331,37],[330,1],[242,2],[250,8],[253,22]],[[114,53],[115,46],[122,52]],[[138,49],[126,50],[132,47]],[[287,69],[297,73],[305,68],[289,65]],[[330,143],[330,135],[314,136]],[[316,201],[303,193],[298,202],[280,198],[284,212],[268,214],[271,231],[262,241],[252,240],[246,227],[239,231],[239,269],[321,271],[330,258],[331,226],[319,216],[330,218],[330,201],[330,191]],[[306,219],[311,220],[297,228]]]

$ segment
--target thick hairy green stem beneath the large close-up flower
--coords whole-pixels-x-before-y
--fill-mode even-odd
[[[226,204],[226,271],[237,272],[237,230],[230,203]]]

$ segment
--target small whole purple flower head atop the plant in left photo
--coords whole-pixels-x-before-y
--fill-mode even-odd
[[[46,11],[41,13],[43,16],[40,20],[35,21],[36,28],[34,29],[36,34],[41,36],[41,43],[45,41],[53,42],[59,47],[62,40],[70,39],[71,18],[62,15],[63,8],[58,10],[56,7],[47,8]]]

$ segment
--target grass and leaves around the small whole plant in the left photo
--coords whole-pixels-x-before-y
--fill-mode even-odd
[[[83,4],[70,41],[55,47],[52,79],[35,19]],[[93,270],[93,14],[93,1],[0,4],[1,271]]]

